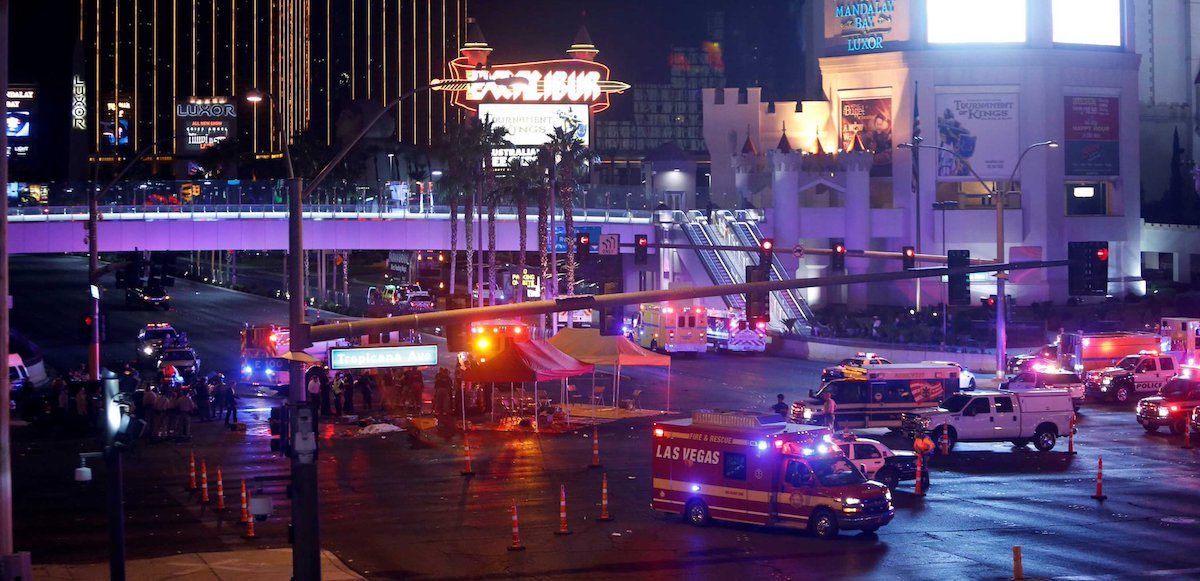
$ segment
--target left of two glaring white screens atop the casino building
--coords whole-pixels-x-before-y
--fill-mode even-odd
[[[1025,42],[1026,0],[926,0],[931,44]]]

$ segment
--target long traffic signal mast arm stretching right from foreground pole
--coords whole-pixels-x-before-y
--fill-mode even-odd
[[[742,246],[736,246],[742,248]],[[752,248],[757,251],[757,248]],[[892,252],[899,256],[899,252]],[[816,278],[790,278],[770,282],[751,282],[738,284],[715,284],[710,287],[691,287],[665,290],[642,290],[636,293],[616,293],[602,295],[578,295],[564,297],[556,300],[538,300],[529,303],[517,303],[512,305],[496,305],[475,309],[457,309],[454,311],[440,311],[424,315],[404,315],[400,317],[372,318],[352,321],[347,323],[332,323],[318,327],[308,327],[301,330],[307,335],[301,339],[300,334],[294,334],[295,342],[293,349],[302,349],[314,341],[331,341],[343,337],[355,337],[361,335],[391,333],[422,327],[445,327],[451,324],[463,324],[479,321],[491,321],[512,317],[528,317],[533,315],[547,315],[552,312],[580,311],[584,309],[610,309],[623,305],[641,305],[643,303],[662,303],[688,299],[700,299],[706,297],[724,297],[727,294],[785,290],[790,288],[812,288],[834,284],[858,284],[864,282],[887,282],[907,278],[928,278],[935,276],[962,275],[971,272],[995,272],[1001,270],[1026,270],[1051,266],[1066,266],[1068,260],[1042,260],[1042,262],[1018,262],[1008,264],[977,264],[962,268],[928,268],[920,270],[901,270],[895,272],[874,272],[862,275],[823,276]],[[306,325],[307,327],[307,325]]]

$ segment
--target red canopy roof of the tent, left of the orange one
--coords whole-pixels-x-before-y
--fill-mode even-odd
[[[590,373],[593,365],[580,363],[546,341],[511,343],[496,357],[467,370],[474,383],[545,382]]]

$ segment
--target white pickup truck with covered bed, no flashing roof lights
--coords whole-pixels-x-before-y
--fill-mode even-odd
[[[1075,415],[1070,394],[1062,389],[973,391],[947,397],[940,407],[901,414],[900,430],[916,438],[929,433],[940,442],[946,430],[950,448],[958,442],[1030,442],[1040,451],[1067,437]]]

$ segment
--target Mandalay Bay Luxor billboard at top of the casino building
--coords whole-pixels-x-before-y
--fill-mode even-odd
[[[911,38],[912,0],[826,0],[827,54],[899,50]]]

